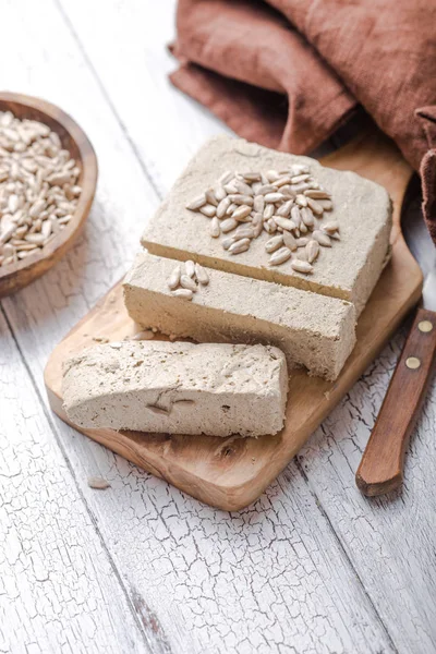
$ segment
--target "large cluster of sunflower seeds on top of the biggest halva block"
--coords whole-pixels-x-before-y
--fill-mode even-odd
[[[223,237],[229,254],[246,252],[264,231],[269,265],[313,272],[320,247],[339,240],[335,220],[322,221],[332,209],[331,195],[312,177],[310,168],[293,165],[286,170],[266,172],[225,172],[211,189],[186,205],[210,219],[213,239]]]

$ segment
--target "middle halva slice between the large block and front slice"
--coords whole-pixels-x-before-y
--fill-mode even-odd
[[[124,280],[130,316],[164,334],[202,342],[280,348],[289,366],[336,379],[355,343],[355,310],[343,300],[207,268],[192,301],[168,288],[177,262],[144,251]]]

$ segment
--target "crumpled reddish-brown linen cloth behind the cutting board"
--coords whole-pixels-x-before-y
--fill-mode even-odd
[[[179,0],[175,86],[302,154],[361,104],[420,170],[436,242],[436,0]]]

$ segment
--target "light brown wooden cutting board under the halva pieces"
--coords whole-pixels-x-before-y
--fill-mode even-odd
[[[393,201],[392,258],[384,270],[358,324],[358,343],[335,382],[292,371],[284,429],[258,439],[171,436],[111,429],[80,429],[94,440],[178,488],[209,504],[239,510],[264,492],[339,402],[421,295],[421,270],[403,241],[400,211],[412,171],[382,134],[353,141],[323,160],[354,170],[383,184]],[[70,356],[98,343],[122,340],[140,328],[129,318],[118,283],[52,352],[45,371],[51,409],[69,422],[62,409],[61,367]],[[157,338],[162,338],[157,335]],[[74,425],[73,425],[74,426]]]

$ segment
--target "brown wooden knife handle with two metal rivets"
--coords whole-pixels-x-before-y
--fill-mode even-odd
[[[383,495],[402,483],[404,451],[432,376],[435,352],[436,312],[419,308],[355,474],[364,495]]]

